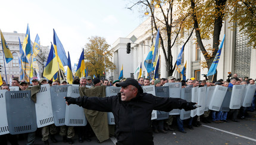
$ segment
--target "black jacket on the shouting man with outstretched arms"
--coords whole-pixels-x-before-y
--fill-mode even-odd
[[[113,112],[117,144],[154,144],[151,128],[152,110],[171,111],[186,107],[179,98],[161,98],[152,94],[138,94],[129,102],[121,101],[121,95],[105,98],[80,96],[77,105],[103,112]]]

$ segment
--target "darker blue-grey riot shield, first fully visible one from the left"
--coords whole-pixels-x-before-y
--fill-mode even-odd
[[[30,97],[30,91],[7,91],[5,93],[10,134],[36,131],[35,103]]]

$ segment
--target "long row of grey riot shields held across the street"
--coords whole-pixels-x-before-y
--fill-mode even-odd
[[[169,115],[180,115],[185,120],[195,115],[202,115],[208,109],[229,111],[241,106],[249,107],[256,85],[182,88],[181,83],[166,83],[164,86],[143,86],[143,91],[161,97],[182,98],[197,102],[202,107],[193,111],[173,109],[170,112],[152,111],[152,120],[164,120]],[[120,88],[109,86],[106,95],[117,95]],[[64,96],[78,97],[78,85],[49,86],[41,85],[36,94],[36,103],[31,99],[30,91],[0,91],[0,135],[21,134],[36,131],[38,127],[55,124],[57,126],[83,126],[87,124],[83,108],[78,105],[65,105]],[[108,124],[114,124],[114,116],[108,112]]]

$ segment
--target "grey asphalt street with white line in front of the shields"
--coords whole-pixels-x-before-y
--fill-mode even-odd
[[[256,144],[256,112],[250,113],[251,117],[248,120],[239,120],[239,123],[210,123],[202,124],[201,127],[194,127],[194,130],[187,131],[186,134],[179,131],[168,131],[167,134],[154,134],[154,143],[159,145],[166,144]],[[177,130],[177,128],[176,128]],[[114,139],[114,138],[111,138]],[[113,145],[112,140],[107,140],[101,143],[102,145]],[[61,137],[57,136],[58,143],[54,145],[68,144],[61,142]],[[26,144],[26,141],[20,141],[20,144]],[[36,138],[35,144],[42,145],[43,141]],[[78,137],[74,137],[74,144],[99,144],[96,138],[92,141],[79,143]]]

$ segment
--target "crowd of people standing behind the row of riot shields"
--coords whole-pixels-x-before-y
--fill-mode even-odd
[[[91,76],[88,77],[74,77],[73,84],[77,84],[79,86],[115,86],[117,83],[123,82],[126,80],[126,78],[123,78],[121,80],[107,80],[107,79],[98,79],[94,78],[92,79]],[[224,81],[223,79],[217,80],[217,82],[211,82],[211,80],[208,80],[205,78],[204,80],[196,80],[195,78],[191,78],[188,80],[180,80],[176,79],[173,76],[166,78],[161,78],[157,80],[149,80],[148,78],[139,78],[138,83],[141,86],[148,86],[148,85],[155,85],[155,86],[163,86],[165,83],[173,83],[173,82],[181,82],[182,88],[186,87],[196,87],[196,86],[215,86],[215,85],[222,85],[226,87],[233,87],[233,85],[244,85],[244,84],[250,84],[255,85],[254,79],[248,79],[248,77],[245,78],[238,78],[237,74],[233,75],[233,78],[227,79]],[[33,78],[31,81],[31,84],[26,81],[19,81],[18,79],[13,79],[11,82],[11,86],[18,86],[20,91],[24,91],[29,86],[34,85],[43,85],[49,83],[50,86],[52,85],[67,85],[66,80],[55,80],[52,82],[52,80],[46,80],[45,78],[42,78],[38,80],[37,78]],[[5,81],[3,81],[3,84],[1,85],[1,89],[7,89],[10,91],[10,86],[6,84]],[[186,133],[185,127],[187,127],[189,130],[193,130],[194,127],[200,127],[202,123],[229,123],[230,121],[238,122],[238,119],[246,120],[249,112],[255,111],[255,96],[252,101],[251,107],[241,107],[241,109],[230,109],[229,112],[223,112],[223,111],[205,111],[203,115],[201,116],[195,116],[191,117],[187,120],[180,120],[179,115],[170,115],[167,120],[152,120],[152,131],[154,133],[167,133],[167,131],[174,131],[177,130],[181,133]],[[0,136],[0,142],[1,144],[7,144],[8,141],[12,145],[17,145],[19,140],[27,140],[27,145],[35,144],[35,138],[36,136],[39,136],[42,138],[42,141],[45,144],[57,143],[60,140],[57,140],[55,136],[57,134],[60,134],[62,137],[62,141],[64,143],[73,144],[74,143],[74,136],[77,134],[79,143],[83,143],[83,141],[91,141],[91,137],[93,137],[93,131],[90,127],[90,124],[87,124],[85,127],[67,127],[67,126],[61,126],[56,127],[54,124],[48,125],[46,127],[38,128],[38,130],[35,133],[28,133],[28,134],[18,134],[18,135],[11,135],[11,134],[4,134]],[[110,133],[111,134],[111,133]],[[112,133],[114,136],[114,134]],[[49,141],[51,140],[51,141]],[[99,142],[99,140],[98,140]]]

